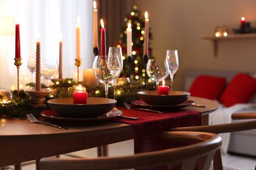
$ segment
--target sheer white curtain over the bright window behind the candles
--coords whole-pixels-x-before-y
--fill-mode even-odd
[[[41,60],[58,61],[60,33],[62,33],[63,78],[76,80],[75,24],[81,18],[81,58],[79,77],[83,69],[93,63],[93,0],[0,0],[0,15],[14,16],[20,24],[20,48],[22,65],[20,85],[31,82],[27,68],[30,50],[41,41]],[[1,23],[2,24],[2,23]],[[15,25],[13,25],[15,26]],[[14,37],[0,36],[0,87],[16,89],[16,66],[14,63]],[[43,82],[43,79],[42,79]],[[22,87],[21,87],[22,88]]]

